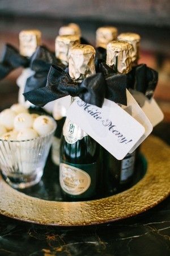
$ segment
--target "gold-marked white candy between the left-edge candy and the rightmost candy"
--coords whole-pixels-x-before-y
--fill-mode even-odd
[[[25,128],[31,128],[33,125],[33,118],[28,113],[20,113],[14,119],[14,128],[16,131],[21,131]]]

